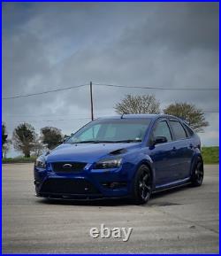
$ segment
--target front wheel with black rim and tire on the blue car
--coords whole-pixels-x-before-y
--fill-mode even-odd
[[[132,199],[135,205],[146,204],[152,193],[152,175],[149,167],[141,165],[133,179]]]

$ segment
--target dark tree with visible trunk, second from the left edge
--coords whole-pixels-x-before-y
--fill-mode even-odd
[[[21,123],[13,131],[12,141],[14,148],[22,151],[26,158],[30,158],[31,151],[34,150],[37,135],[34,127],[28,123]]]

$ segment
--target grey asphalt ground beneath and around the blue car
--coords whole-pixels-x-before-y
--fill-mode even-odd
[[[218,166],[201,187],[124,201],[48,202],[34,196],[32,164],[3,166],[3,253],[217,253]],[[133,228],[130,239],[92,238],[89,230]]]

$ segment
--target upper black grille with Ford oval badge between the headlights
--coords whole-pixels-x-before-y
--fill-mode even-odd
[[[58,162],[52,163],[52,169],[55,173],[79,173],[86,165],[81,162]]]

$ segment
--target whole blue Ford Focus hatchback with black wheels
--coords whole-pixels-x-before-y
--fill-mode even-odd
[[[199,136],[170,115],[126,114],[97,119],[34,164],[36,195],[44,198],[132,198],[187,182],[200,186]]]

